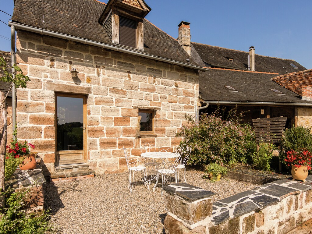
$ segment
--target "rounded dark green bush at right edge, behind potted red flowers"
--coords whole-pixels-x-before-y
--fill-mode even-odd
[[[312,134],[309,127],[292,127],[284,131],[281,139],[280,160],[285,163],[286,154],[290,150],[307,149],[312,152]]]

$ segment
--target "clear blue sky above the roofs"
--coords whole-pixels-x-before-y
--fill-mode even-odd
[[[107,2],[107,1],[103,1]],[[311,0],[145,0],[146,17],[172,37],[178,24],[191,22],[192,41],[256,54],[294,59],[312,68]],[[0,0],[0,10],[13,12],[13,0]],[[0,20],[10,16],[0,12]],[[0,22],[0,50],[9,51],[10,28]]]

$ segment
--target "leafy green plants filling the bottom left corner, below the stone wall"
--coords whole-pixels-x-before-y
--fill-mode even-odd
[[[4,215],[0,219],[0,230],[3,234],[44,234],[51,233],[53,229],[49,225],[46,212],[30,213],[23,212],[25,205],[23,198],[25,192],[14,192],[8,189],[1,195],[5,196]]]

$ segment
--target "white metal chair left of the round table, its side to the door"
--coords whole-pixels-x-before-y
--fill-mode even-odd
[[[124,157],[126,158],[128,170],[129,170],[129,183],[128,188],[130,188],[130,193],[134,188],[134,172],[141,171],[143,178],[142,181],[144,185],[149,189],[149,184],[146,181],[146,167],[143,166],[143,163],[138,158],[129,158],[128,151],[124,149]]]

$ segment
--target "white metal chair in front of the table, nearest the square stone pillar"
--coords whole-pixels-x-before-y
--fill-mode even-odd
[[[162,150],[161,152],[164,153],[170,153],[169,152],[170,149],[167,150]],[[173,161],[174,159],[174,161]],[[161,158],[162,163],[160,164],[161,169],[158,169],[158,173],[157,173],[157,177],[156,177],[156,183],[154,185],[153,191],[155,191],[156,186],[158,184],[158,179],[161,175],[161,196],[163,196],[163,186],[166,183],[170,183],[171,182],[171,176],[174,176],[175,179],[175,183],[177,183],[177,171],[176,171],[176,167],[178,166],[178,158]]]

